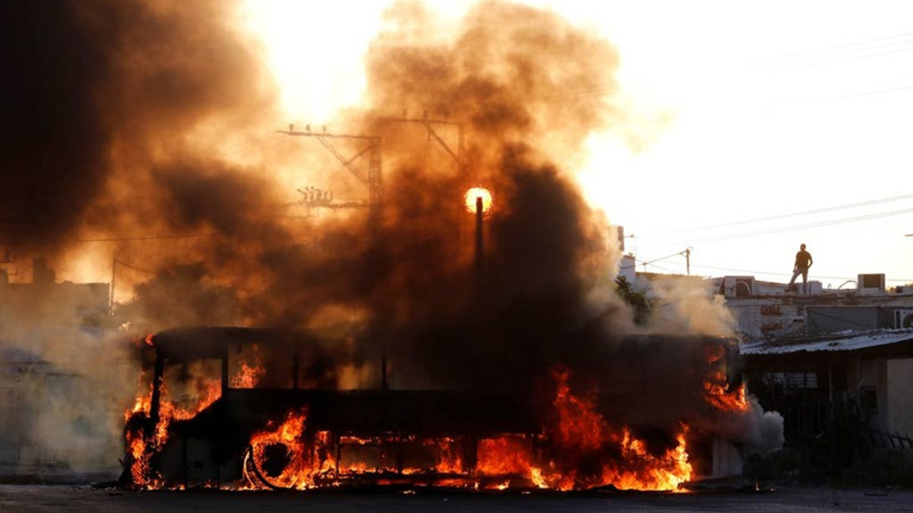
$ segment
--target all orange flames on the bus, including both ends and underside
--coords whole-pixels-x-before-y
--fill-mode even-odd
[[[729,390],[725,351],[709,350],[707,358],[707,401],[721,411],[746,410],[744,387]],[[264,372],[255,351],[238,361],[229,382],[233,388],[254,387]],[[250,436],[244,487],[303,490],[367,479],[379,485],[422,483],[474,489],[681,491],[692,476],[687,424],[681,423],[677,433],[667,434],[666,445],[650,447],[631,426],[614,425],[600,414],[597,390],[574,393],[571,378],[572,372],[563,366],[551,372],[551,412],[543,416],[551,420],[540,433],[491,434],[478,439],[467,435],[336,434],[309,429],[306,407],[290,410]],[[156,418],[152,418],[155,383],[141,386],[144,392],[125,413],[131,479],[136,487],[146,489],[173,486],[151,467],[152,456],[168,442],[173,422],[193,418],[222,392],[221,380],[199,378],[190,396],[176,398],[161,382],[162,377],[158,379]],[[404,458],[404,452],[413,458]]]

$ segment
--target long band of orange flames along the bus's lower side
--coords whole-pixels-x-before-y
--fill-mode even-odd
[[[554,373],[557,424],[545,434],[501,434],[478,440],[474,469],[465,465],[460,437],[310,435],[306,412],[290,411],[282,422],[268,424],[251,437],[257,478],[248,474],[247,487],[309,489],[365,476],[384,476],[375,482],[392,484],[397,482],[395,476],[429,476],[423,482],[437,487],[570,491],[612,486],[681,491],[692,475],[687,426],[682,424],[675,434],[674,447],[651,452],[628,427],[614,429],[596,412],[592,398],[573,394],[569,376],[566,370]],[[403,443],[424,447],[433,455],[428,465],[397,467],[393,447]],[[342,447],[352,455],[339,458]],[[598,462],[595,469],[593,462]]]

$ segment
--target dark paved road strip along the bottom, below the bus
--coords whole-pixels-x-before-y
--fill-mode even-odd
[[[131,492],[88,486],[0,486],[0,513],[269,513],[425,512],[589,513],[699,512],[814,513],[913,512],[913,491],[788,487],[767,493],[615,493],[599,496],[467,495],[418,493],[285,493],[228,491]]]

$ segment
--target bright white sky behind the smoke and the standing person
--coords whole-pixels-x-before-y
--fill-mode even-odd
[[[621,56],[637,115],[594,135],[577,171],[631,236],[638,270],[684,274],[690,247],[693,275],[784,282],[805,243],[824,288],[862,273],[913,282],[913,3],[526,3]],[[247,0],[289,120],[329,123],[360,103],[362,56],[390,4]],[[427,5],[456,22],[471,2]],[[617,135],[656,127],[636,150]]]

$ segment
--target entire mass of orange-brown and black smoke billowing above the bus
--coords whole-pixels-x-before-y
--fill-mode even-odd
[[[476,5],[445,40],[427,34],[421,5],[395,5],[366,58],[369,107],[333,127],[383,138],[380,215],[301,217],[289,207],[295,188],[340,163],[309,158],[321,163],[292,179],[280,171],[302,141],[272,133],[284,124],[276,88],[233,28],[233,8],[4,7],[0,242],[52,264],[94,244],[100,261],[137,266],[134,296],[112,322],[131,333],[309,328],[370,341],[346,349],[355,367],[388,346],[393,386],[531,393],[559,363],[610,386],[603,362],[630,323],[606,293],[620,256],[571,172],[587,137],[624,116],[605,93],[574,92],[611,89],[614,48],[505,2]],[[495,196],[480,267],[462,198],[475,185]],[[33,347],[55,354],[45,339]],[[349,373],[371,385],[377,372]]]

